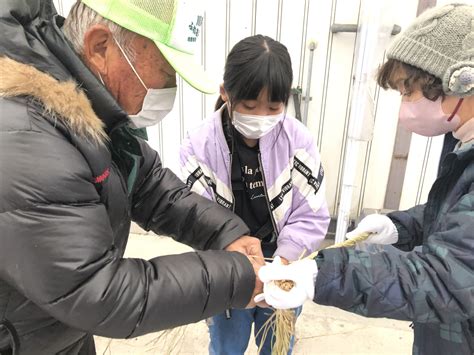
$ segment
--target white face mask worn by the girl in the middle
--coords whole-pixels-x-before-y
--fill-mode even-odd
[[[277,115],[260,116],[244,115],[240,112],[232,112],[232,124],[235,129],[245,138],[260,139],[270,132],[285,117],[285,112]]]

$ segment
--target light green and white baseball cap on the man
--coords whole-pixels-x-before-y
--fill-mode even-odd
[[[116,24],[151,39],[166,60],[195,89],[212,94],[218,82],[194,59],[204,19],[201,0],[82,0]]]

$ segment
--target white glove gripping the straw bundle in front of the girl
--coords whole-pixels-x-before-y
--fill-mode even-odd
[[[255,302],[265,302],[277,309],[301,306],[307,299],[314,298],[314,283],[318,267],[314,260],[303,259],[283,265],[280,257],[260,268],[258,276],[263,282],[263,294],[255,296]],[[289,291],[281,289],[274,281],[290,280],[295,283]]]

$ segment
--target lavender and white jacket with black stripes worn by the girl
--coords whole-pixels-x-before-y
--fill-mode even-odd
[[[278,234],[275,255],[296,260],[319,247],[329,225],[321,159],[307,128],[288,116],[259,145],[267,201]],[[234,208],[231,152],[221,110],[189,133],[180,162],[194,192]]]

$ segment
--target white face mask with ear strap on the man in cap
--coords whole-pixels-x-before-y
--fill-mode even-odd
[[[125,51],[115,40],[117,46],[132,68],[140,83],[146,89],[146,95],[143,100],[142,109],[136,115],[129,115],[134,128],[150,127],[161,122],[168,113],[173,109],[174,100],[176,99],[176,87],[167,89],[149,89],[146,87],[140,75],[133,67],[130,59],[128,59]]]

